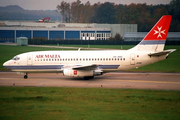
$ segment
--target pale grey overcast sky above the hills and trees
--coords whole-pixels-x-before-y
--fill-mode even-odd
[[[63,0],[0,0],[0,6],[19,5],[27,10],[55,10],[56,6]],[[73,2],[76,0],[64,0],[66,2]],[[80,0],[86,3],[88,0]],[[169,4],[171,0],[89,0],[91,4],[97,2],[113,2],[116,4],[130,4],[130,3],[147,3],[147,4]]]

